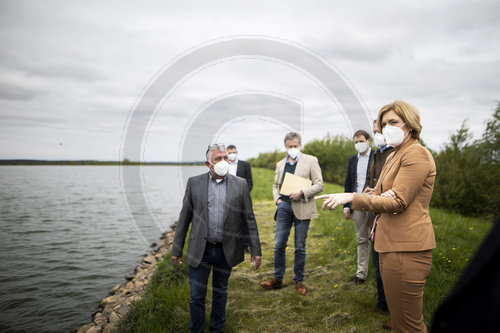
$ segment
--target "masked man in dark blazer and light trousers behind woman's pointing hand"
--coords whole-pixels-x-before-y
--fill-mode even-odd
[[[349,158],[344,192],[363,193],[368,164],[373,154],[373,151],[370,149],[370,134],[364,130],[356,131],[353,141],[358,153]],[[358,242],[358,269],[349,284],[359,285],[365,282],[368,277],[368,264],[370,262],[370,216],[369,212],[353,211],[350,204],[344,205],[344,217],[350,219],[351,214]]]

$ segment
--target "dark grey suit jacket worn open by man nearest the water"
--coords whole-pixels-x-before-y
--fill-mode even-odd
[[[186,262],[198,267],[205,252],[208,235],[208,172],[189,178],[175,229],[172,255],[182,256],[186,233],[191,225]],[[244,260],[241,226],[248,225],[250,252],[260,256],[259,232],[253,214],[252,199],[245,179],[228,174],[226,205],[224,207],[223,249],[227,263],[232,267]]]

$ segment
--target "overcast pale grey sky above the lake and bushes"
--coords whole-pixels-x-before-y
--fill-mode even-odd
[[[367,121],[395,99],[409,101],[423,139],[439,150],[465,119],[480,137],[500,100],[499,12],[498,1],[2,0],[0,159],[127,157],[130,116],[148,87],[191,50],[235,36],[317,55],[355,91]],[[291,129],[305,142],[350,136],[347,106],[295,65],[254,56],[196,68],[152,112],[141,158],[180,160],[208,109],[207,133],[217,130],[209,141],[236,144],[244,159],[282,149]],[[219,101],[250,93],[277,97],[266,110],[286,112],[280,98],[298,105],[299,128],[273,111],[250,116],[258,103],[235,105],[234,116],[227,103],[218,111]]]

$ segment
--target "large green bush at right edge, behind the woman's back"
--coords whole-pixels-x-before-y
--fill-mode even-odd
[[[494,216],[500,207],[500,103],[479,140],[466,126],[434,153],[436,184],[431,204],[469,216]]]

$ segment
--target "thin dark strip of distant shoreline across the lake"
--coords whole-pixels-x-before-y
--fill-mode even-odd
[[[96,161],[96,160],[0,160],[2,165],[205,165],[205,162],[132,162],[132,161]]]

